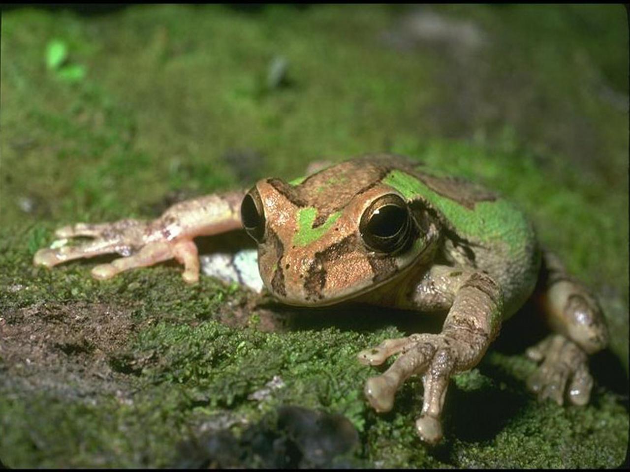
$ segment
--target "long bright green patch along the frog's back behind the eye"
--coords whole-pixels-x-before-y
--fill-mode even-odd
[[[383,183],[392,186],[407,199],[425,199],[447,218],[462,237],[473,242],[505,243],[510,254],[515,254],[534,240],[534,232],[523,213],[505,199],[480,201],[469,209],[436,193],[406,172],[391,171]]]

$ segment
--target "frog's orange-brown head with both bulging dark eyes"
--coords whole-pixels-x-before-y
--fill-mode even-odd
[[[241,204],[266,288],[289,305],[328,305],[400,274],[427,247],[425,223],[389,169],[350,161],[292,184],[261,180]]]

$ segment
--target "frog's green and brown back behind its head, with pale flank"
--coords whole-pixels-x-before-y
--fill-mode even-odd
[[[524,213],[479,184],[398,162],[383,182],[435,211],[444,228],[445,259],[490,274],[503,289],[506,315],[512,315],[532,293],[540,266]]]

